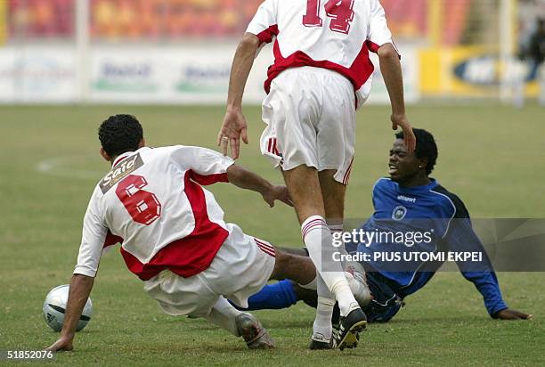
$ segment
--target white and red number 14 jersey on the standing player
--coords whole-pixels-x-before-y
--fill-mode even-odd
[[[264,83],[267,94],[283,70],[313,66],[335,70],[354,86],[357,106],[370,94],[369,52],[394,44],[378,0],[265,0],[247,32],[274,42],[274,63]]]

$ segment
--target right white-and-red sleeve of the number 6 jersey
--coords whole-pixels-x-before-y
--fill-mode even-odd
[[[193,181],[204,185],[228,182],[227,168],[234,163],[217,151],[182,145],[175,147],[171,157],[180,167],[191,171]]]

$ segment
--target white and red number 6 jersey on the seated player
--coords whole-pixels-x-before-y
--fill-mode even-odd
[[[204,148],[142,148],[122,154],[96,185],[74,273],[95,276],[102,249],[122,242],[129,270],[148,280],[168,269],[205,270],[229,235],[224,211],[200,184],[227,182],[229,157]]]

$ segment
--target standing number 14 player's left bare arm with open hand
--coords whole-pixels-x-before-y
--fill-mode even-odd
[[[231,145],[232,159],[239,158],[240,137],[248,144],[246,118],[242,114],[242,94],[248,80],[248,75],[254,64],[259,39],[256,35],[246,33],[235,53],[229,79],[229,93],[227,94],[227,111],[224,122],[217,135],[217,145],[222,147],[227,155],[227,146]]]

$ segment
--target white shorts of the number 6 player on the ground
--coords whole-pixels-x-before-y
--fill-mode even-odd
[[[267,283],[276,261],[273,246],[236,224],[227,224],[227,230],[229,236],[204,272],[183,278],[165,270],[145,281],[144,290],[165,313],[205,316],[219,296],[248,307],[248,298]]]

